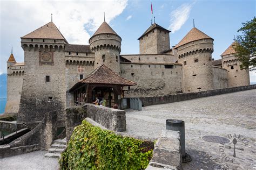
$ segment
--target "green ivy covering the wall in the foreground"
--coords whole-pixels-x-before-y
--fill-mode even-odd
[[[61,169],[145,169],[152,151],[146,141],[119,136],[84,120],[73,131],[59,164]]]

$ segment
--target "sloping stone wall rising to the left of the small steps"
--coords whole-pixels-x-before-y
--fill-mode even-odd
[[[0,145],[0,158],[36,150],[46,150],[57,135],[56,111],[47,112],[35,129],[7,145]]]

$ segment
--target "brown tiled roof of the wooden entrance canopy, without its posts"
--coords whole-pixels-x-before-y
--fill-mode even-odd
[[[134,86],[137,85],[135,82],[125,79],[114,73],[110,68],[105,65],[101,65],[95,70],[93,70],[84,79],[79,80],[68,92],[77,89],[83,84],[115,84],[120,86]]]

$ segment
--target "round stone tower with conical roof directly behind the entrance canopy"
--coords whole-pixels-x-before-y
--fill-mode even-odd
[[[109,24],[103,22],[89,39],[90,48],[95,52],[94,67],[97,68],[104,64],[119,74],[121,41],[121,37],[114,32]]]

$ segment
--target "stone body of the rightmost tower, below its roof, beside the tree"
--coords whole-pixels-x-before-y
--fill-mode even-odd
[[[234,54],[224,55],[222,59],[223,68],[227,69],[228,87],[250,85],[250,74],[248,69],[240,69],[240,61]]]

